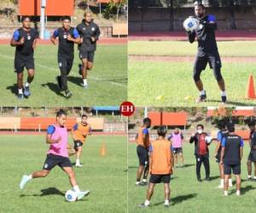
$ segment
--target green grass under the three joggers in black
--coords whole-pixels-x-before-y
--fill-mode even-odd
[[[16,75],[14,72],[15,48],[1,45],[0,80],[1,106],[116,106],[127,97],[127,45],[98,45],[94,68],[89,72],[89,89],[80,86],[80,63],[75,47],[73,70],[68,78],[68,87],[73,92],[66,99],[59,91],[55,76],[60,71],[57,64],[57,47],[38,45],[35,51],[36,76],[31,85],[32,96],[19,101],[16,94]],[[26,72],[24,72],[26,73]],[[26,77],[26,75],[25,75]],[[25,78],[26,80],[26,78]]]

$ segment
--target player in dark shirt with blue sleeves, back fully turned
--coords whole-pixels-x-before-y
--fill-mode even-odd
[[[236,195],[239,196],[241,188],[241,158],[244,146],[241,137],[235,134],[234,124],[227,125],[228,134],[221,141],[220,164],[224,164],[224,196],[228,196],[229,177],[231,170],[236,176]]]

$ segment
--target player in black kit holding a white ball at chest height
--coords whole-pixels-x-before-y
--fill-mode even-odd
[[[207,101],[207,93],[201,82],[201,72],[206,69],[207,63],[213,70],[214,77],[218,82],[218,87],[221,90],[221,101],[227,101],[225,92],[224,78],[221,75],[221,60],[218,55],[218,47],[215,38],[215,30],[217,29],[216,17],[212,14],[206,14],[203,4],[195,5],[195,17],[200,21],[197,30],[188,32],[189,42],[194,43],[195,37],[198,41],[198,52],[195,58],[193,78],[197,89],[200,91],[200,96],[197,102]]]

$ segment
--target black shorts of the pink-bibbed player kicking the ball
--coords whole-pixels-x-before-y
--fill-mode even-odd
[[[58,165],[61,168],[72,167],[69,158],[55,154],[48,154],[44,162],[43,170],[52,170],[55,167],[55,165]]]

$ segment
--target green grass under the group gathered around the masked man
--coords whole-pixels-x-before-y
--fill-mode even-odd
[[[219,184],[218,164],[210,159],[212,181],[201,183],[196,181],[194,144],[186,143],[183,147],[184,167],[174,170],[171,181],[171,206],[164,207],[164,187],[158,184],[154,189],[150,207],[140,210],[138,204],[142,204],[145,199],[147,187],[135,187],[137,172],[136,144],[130,143],[128,146],[128,206],[129,212],[254,212],[256,181],[246,181],[247,179],[247,153],[248,145],[245,145],[244,158],[241,167],[241,197],[236,196],[236,186],[230,188],[230,195],[224,198],[223,191],[216,188]],[[212,143],[210,153],[213,153],[215,143]],[[203,166],[201,176],[205,177]],[[233,183],[235,178],[233,177]]]

